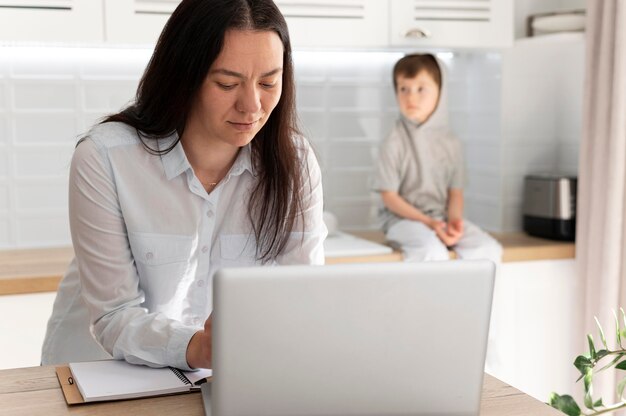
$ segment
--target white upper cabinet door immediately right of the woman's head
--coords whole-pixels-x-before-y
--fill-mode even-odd
[[[297,48],[389,44],[387,0],[275,0]]]

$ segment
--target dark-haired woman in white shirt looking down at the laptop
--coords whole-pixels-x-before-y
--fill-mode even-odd
[[[43,364],[210,367],[218,268],[323,263],[320,171],[271,0],[182,1],[135,103],[76,147],[70,226]]]

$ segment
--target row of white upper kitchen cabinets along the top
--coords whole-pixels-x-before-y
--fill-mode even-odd
[[[513,0],[275,0],[294,49],[500,48]],[[0,0],[0,40],[154,44],[180,0]]]

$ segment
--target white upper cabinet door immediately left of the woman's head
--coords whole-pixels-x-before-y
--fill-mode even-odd
[[[105,40],[155,44],[180,0],[104,0]]]

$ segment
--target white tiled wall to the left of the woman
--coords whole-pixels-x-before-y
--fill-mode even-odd
[[[77,137],[132,98],[148,50],[4,46],[0,53],[0,248],[70,244]]]

